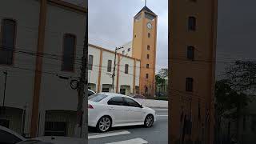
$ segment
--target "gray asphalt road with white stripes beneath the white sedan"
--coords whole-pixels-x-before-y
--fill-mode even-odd
[[[155,109],[157,122],[154,126],[118,127],[107,133],[98,134],[89,129],[89,144],[167,144],[168,143],[168,110]]]

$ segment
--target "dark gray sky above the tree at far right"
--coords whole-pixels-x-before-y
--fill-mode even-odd
[[[255,60],[256,1],[219,0],[218,5],[216,68],[219,75],[228,65],[224,62],[234,62],[235,59]]]

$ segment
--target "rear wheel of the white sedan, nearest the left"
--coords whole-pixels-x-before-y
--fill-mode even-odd
[[[108,130],[110,130],[112,125],[112,120],[109,116],[103,116],[102,118],[99,118],[96,129],[100,133],[104,133]]]

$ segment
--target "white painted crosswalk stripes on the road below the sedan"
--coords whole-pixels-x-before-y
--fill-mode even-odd
[[[93,133],[88,135],[89,141],[92,139],[97,139],[97,138],[110,138],[118,135],[125,135],[125,134],[130,134],[130,131],[128,130],[116,130],[116,131],[110,131],[107,133]],[[89,142],[90,143],[90,142]],[[128,138],[128,139],[123,139],[122,141],[118,142],[106,142],[104,144],[147,144],[148,142],[145,139],[142,138]]]

